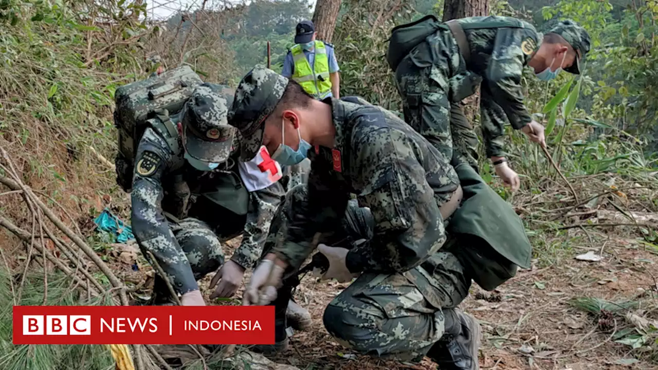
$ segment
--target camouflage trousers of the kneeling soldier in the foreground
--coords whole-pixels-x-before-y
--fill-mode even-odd
[[[336,340],[357,352],[418,362],[445,334],[447,310],[468,295],[470,278],[449,251],[436,253],[440,261],[432,274],[438,286],[428,287],[439,300],[430,302],[418,286],[422,267],[399,274],[362,274],[324,311],[324,327]]]

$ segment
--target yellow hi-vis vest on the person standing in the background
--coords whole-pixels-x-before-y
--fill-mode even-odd
[[[297,44],[290,49],[292,60],[295,63],[295,72],[292,79],[295,80],[307,92],[316,99],[324,99],[331,93],[331,80],[329,79],[329,59],[324,42],[315,40],[315,59],[313,68],[304,56],[301,45]]]

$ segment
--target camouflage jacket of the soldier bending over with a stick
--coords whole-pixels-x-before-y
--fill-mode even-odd
[[[509,122],[518,130],[532,120],[523,103],[521,76],[524,66],[540,46],[542,35],[527,22],[504,16],[473,16],[457,22],[488,22],[492,25],[490,28],[465,30],[470,46],[467,68],[483,78],[480,121],[486,154],[488,157],[504,155],[503,125]],[[517,26],[507,26],[510,23]],[[500,26],[496,27],[496,24]]]

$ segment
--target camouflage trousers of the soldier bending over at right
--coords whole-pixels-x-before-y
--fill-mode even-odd
[[[459,47],[449,32],[430,38],[395,70],[405,122],[446,158],[468,163],[478,171],[478,136],[459,103],[472,95],[474,86],[456,72],[463,66]]]

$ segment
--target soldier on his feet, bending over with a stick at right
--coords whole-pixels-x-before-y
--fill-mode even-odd
[[[399,32],[404,43],[403,32],[409,30],[393,29],[392,39]],[[405,121],[445,156],[455,155],[478,171],[478,138],[459,102],[482,82],[480,126],[486,155],[495,173],[516,191],[519,175],[507,165],[503,125],[509,122],[533,142],[546,145],[544,126],[530,117],[523,103],[523,67],[532,67],[540,80],[551,80],[563,69],[579,74],[590,50],[590,36],[575,22],[564,20],[542,38],[527,22],[501,16],[437,22],[432,30],[404,57],[397,56],[401,45],[395,40],[389,46]]]

